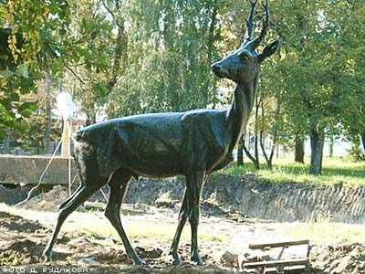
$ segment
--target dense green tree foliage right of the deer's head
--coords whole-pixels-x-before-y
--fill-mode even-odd
[[[364,125],[365,9],[359,1],[271,1],[271,32],[281,40],[279,58],[263,63],[258,88],[265,104],[259,131],[290,143],[318,132],[349,139]],[[251,128],[256,121],[251,120]],[[254,132],[253,129],[248,129]]]

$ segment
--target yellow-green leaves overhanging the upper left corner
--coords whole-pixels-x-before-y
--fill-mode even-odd
[[[9,0],[0,3],[0,138],[6,132],[25,132],[25,119],[36,110],[36,101],[25,101],[35,92],[42,64],[55,51],[55,41],[68,31],[69,6],[60,1]],[[6,26],[6,28],[5,28]],[[57,62],[50,61],[54,68]]]

